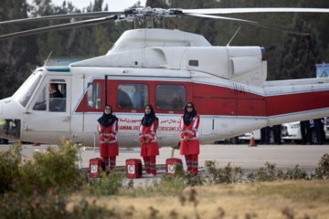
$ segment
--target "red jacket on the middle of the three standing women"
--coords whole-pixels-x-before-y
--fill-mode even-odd
[[[156,130],[158,127],[158,120],[148,127],[140,125],[140,141],[141,141],[141,156],[150,157],[159,155],[159,146],[156,141]],[[142,143],[142,141],[149,141],[149,144]]]

